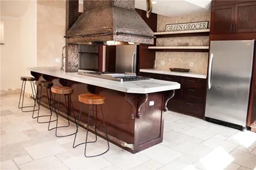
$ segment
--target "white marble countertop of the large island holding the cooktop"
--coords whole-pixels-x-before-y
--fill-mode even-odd
[[[78,75],[77,72],[67,73],[60,71],[59,67],[33,67],[29,68],[30,71],[55,76],[63,79],[68,79],[76,82],[91,84],[94,86],[109,88],[112,90],[127,92],[127,93],[139,93],[147,94],[153,92],[175,90],[180,88],[180,84],[177,82],[169,82],[164,80],[138,80],[132,82],[117,82],[113,80],[106,80],[101,78],[94,78],[85,75]]]

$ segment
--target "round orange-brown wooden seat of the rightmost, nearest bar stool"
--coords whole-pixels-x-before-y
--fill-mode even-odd
[[[106,102],[106,98],[104,96],[91,93],[80,94],[78,96],[78,100],[85,104],[104,104]]]

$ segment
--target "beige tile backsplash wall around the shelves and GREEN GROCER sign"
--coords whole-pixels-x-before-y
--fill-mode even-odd
[[[157,31],[165,31],[166,24],[189,23],[196,21],[210,21],[210,13],[203,13],[182,17],[166,17],[158,15]],[[208,36],[198,37],[172,37],[158,38],[157,46],[178,46],[182,43],[188,43],[189,46],[208,46]],[[165,65],[161,65],[161,61]],[[194,67],[189,67],[189,62],[194,62]],[[157,70],[168,70],[172,67],[189,68],[190,72],[196,74],[207,74],[208,53],[199,52],[156,52]]]

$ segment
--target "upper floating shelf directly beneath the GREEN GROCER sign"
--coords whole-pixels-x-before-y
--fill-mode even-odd
[[[157,38],[166,38],[166,37],[185,37],[185,36],[209,36],[210,29],[198,29],[198,30],[189,30],[189,31],[163,31],[163,32],[154,32],[155,37]]]

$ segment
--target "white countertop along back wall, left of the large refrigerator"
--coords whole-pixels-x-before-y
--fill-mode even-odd
[[[174,75],[174,76],[184,76],[184,77],[206,79],[206,75],[194,74],[191,72],[173,72],[173,71],[155,70],[155,69],[140,69],[140,72],[149,72],[149,73],[155,73],[155,74],[167,74],[167,75]]]

